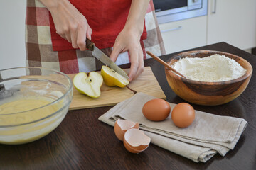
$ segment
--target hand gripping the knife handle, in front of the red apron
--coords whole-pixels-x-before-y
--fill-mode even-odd
[[[92,28],[87,19],[68,0],[40,0],[50,11],[53,22],[62,38],[72,43],[74,48],[86,50],[86,38],[91,40]]]

